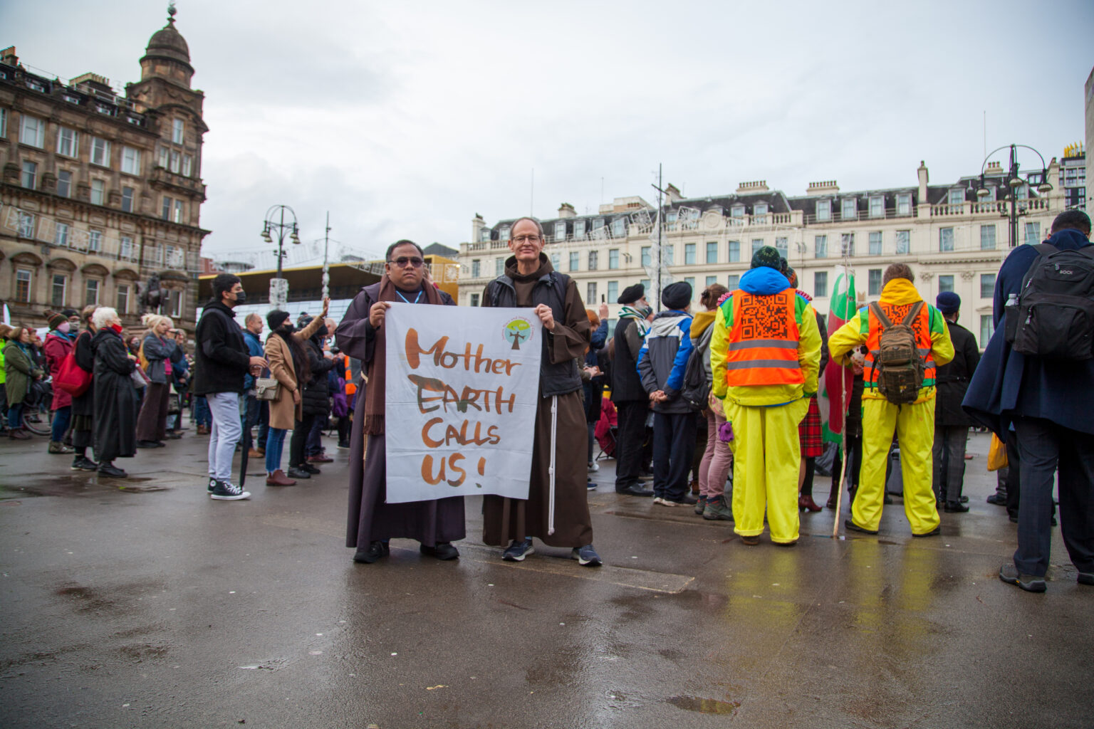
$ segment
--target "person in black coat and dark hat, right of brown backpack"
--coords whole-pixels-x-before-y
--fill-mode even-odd
[[[961,315],[961,296],[943,291],[935,299],[946,319],[950,341],[954,343],[954,358],[938,368],[934,400],[934,498],[946,513],[959,514],[968,507],[961,501],[965,479],[965,444],[973,419],[961,409],[968,381],[980,362],[976,338],[957,324]]]

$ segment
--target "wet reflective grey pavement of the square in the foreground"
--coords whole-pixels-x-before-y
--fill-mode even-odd
[[[348,451],[213,502],[206,443],[109,481],[0,442],[0,726],[1094,727],[1094,588],[1058,533],[1046,595],[999,581],[1015,525],[982,435],[941,537],[896,498],[876,537],[831,539],[825,509],[792,549],[619,496],[606,461],[598,569],[538,542],[501,562],[477,498],[458,561],[395,540],[354,564]]]

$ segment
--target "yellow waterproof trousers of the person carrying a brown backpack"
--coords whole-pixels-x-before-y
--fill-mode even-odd
[[[885,459],[894,428],[900,444],[904,513],[911,533],[926,534],[939,526],[939,509],[931,490],[934,398],[911,405],[862,399],[862,470],[851,520],[863,529],[877,531],[885,498]]]

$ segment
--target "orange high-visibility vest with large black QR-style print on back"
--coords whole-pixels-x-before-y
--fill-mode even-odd
[[[802,385],[798,363],[800,332],[794,297],[787,289],[770,296],[733,292],[733,326],[725,352],[725,383],[742,385]]]

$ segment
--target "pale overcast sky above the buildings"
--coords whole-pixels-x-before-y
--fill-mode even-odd
[[[945,184],[979,172],[985,143],[1048,160],[1082,141],[1094,64],[1089,0],[177,7],[206,94],[212,257],[261,246],[277,203],[304,240],[329,210],[359,249],[457,247],[475,213],[652,200],[659,163],[696,197],[915,185],[920,160]],[[0,0],[0,43],[62,79],[137,81],[165,8]]]

